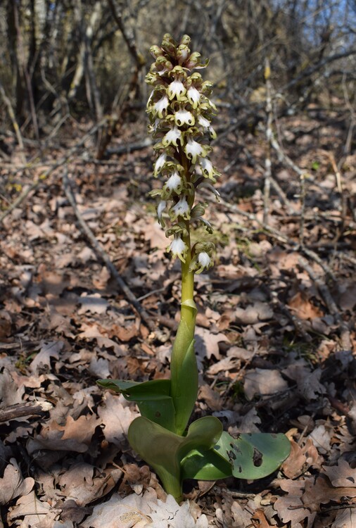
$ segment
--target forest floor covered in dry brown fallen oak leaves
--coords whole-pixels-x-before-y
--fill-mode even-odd
[[[194,417],[215,415],[233,435],[284,432],[292,447],[261,481],[187,482],[180,507],[129,447],[134,404],[96,385],[169,375],[179,263],[148,196],[152,149],[130,149],[147,137],[144,120],[122,127],[100,162],[89,138],[4,218],[0,526],[355,528],[356,155],[343,156],[345,119],[316,107],[281,118],[270,153],[262,128],[240,133],[227,111],[217,122],[222,199],[207,208],[216,263],[196,277]],[[73,120],[39,156],[26,143],[27,160],[37,156],[26,170],[9,136],[1,210],[90,127]]]

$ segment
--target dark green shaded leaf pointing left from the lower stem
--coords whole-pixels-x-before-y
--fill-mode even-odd
[[[170,379],[153,379],[142,383],[100,379],[97,383],[122,393],[128,401],[136,401],[142,416],[174,431],[175,409],[170,396]]]

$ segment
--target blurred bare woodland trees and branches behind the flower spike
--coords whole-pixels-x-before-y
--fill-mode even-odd
[[[69,115],[110,116],[102,157],[128,113],[144,115],[149,48],[165,32],[211,57],[217,103],[242,128],[265,108],[266,61],[279,113],[340,100],[353,116],[355,21],[355,0],[4,0],[0,133],[12,121],[39,140]]]

